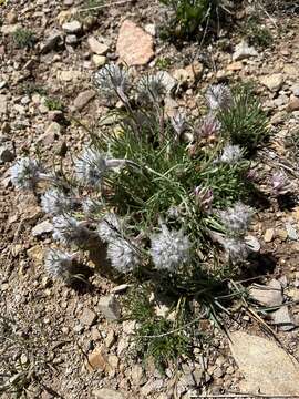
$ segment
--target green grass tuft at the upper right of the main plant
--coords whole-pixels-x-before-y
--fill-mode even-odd
[[[224,134],[250,154],[269,137],[268,117],[254,94],[251,84],[238,84],[233,90],[233,105],[218,113]]]

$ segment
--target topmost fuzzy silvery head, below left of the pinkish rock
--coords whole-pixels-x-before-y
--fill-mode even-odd
[[[118,65],[110,64],[100,69],[94,74],[94,83],[107,100],[121,99],[124,103],[128,102],[127,92],[131,88],[128,74]]]

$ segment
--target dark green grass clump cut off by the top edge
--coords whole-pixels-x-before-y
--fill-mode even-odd
[[[159,0],[172,10],[163,37],[190,39],[202,35],[213,25],[219,25],[227,16],[223,0]]]

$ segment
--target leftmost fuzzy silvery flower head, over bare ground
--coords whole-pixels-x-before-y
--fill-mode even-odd
[[[22,157],[10,168],[11,182],[20,190],[33,190],[39,181],[41,167],[37,161]]]

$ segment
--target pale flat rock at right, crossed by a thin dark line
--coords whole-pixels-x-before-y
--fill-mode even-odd
[[[281,284],[272,279],[267,286],[255,284],[249,288],[252,299],[264,306],[279,306],[283,301]]]

